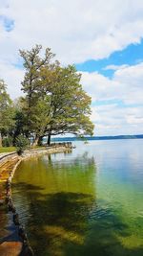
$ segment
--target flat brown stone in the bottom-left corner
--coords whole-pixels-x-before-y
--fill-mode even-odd
[[[4,242],[0,244],[1,256],[18,256],[22,251],[21,242]]]

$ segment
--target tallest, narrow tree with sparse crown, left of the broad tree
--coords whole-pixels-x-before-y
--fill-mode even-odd
[[[24,59],[24,67],[26,74],[22,81],[22,90],[26,94],[25,107],[23,108],[27,116],[27,137],[34,134],[34,144],[37,143],[40,136],[43,135],[46,124],[49,122],[46,109],[49,107],[48,96],[45,95],[41,86],[40,72],[42,68],[48,68],[51,58],[54,55],[51,49],[47,48],[44,58],[41,58],[41,45],[36,45],[31,51],[20,51],[21,57]]]

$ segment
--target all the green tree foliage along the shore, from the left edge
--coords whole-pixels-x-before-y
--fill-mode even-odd
[[[62,67],[53,61],[54,55],[47,48],[43,58],[42,46],[31,51],[20,51],[26,70],[22,81],[25,97],[12,103],[7,86],[0,81],[0,146],[3,138],[12,137],[18,152],[25,149],[26,138],[33,146],[44,136],[72,133],[92,135],[91,97],[83,90],[81,75],[74,66]],[[3,139],[4,145],[11,145]]]

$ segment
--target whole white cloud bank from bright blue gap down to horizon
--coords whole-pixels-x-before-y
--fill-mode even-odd
[[[116,70],[112,79],[95,72],[82,73],[84,88],[95,105],[92,106],[95,134],[143,133],[142,70],[143,63],[127,66]]]

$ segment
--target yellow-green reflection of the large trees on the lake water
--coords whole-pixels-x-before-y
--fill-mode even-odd
[[[84,244],[96,204],[95,172],[87,152],[71,164],[45,155],[19,166],[13,196],[36,255],[64,255],[71,244]]]

